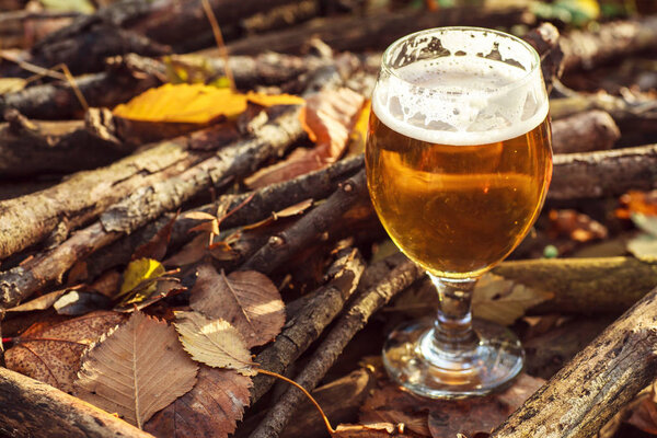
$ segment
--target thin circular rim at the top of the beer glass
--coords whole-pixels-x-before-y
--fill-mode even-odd
[[[401,82],[412,85],[414,88],[417,88],[419,90],[431,90],[433,92],[437,92],[440,94],[449,94],[449,92],[441,90],[440,88],[418,85],[416,83],[413,83],[413,82],[404,79],[403,77],[401,77],[400,74],[396,73],[395,69],[392,68],[392,66],[390,66],[390,59],[389,59],[392,54],[392,50],[395,49],[396,47],[399,47],[403,42],[414,38],[414,37],[417,37],[417,36],[430,35],[430,34],[435,34],[438,32],[445,32],[445,31],[474,31],[474,32],[479,32],[479,33],[484,33],[484,32],[494,33],[502,37],[505,37],[505,38],[511,39],[516,43],[519,43],[531,54],[532,66],[528,71],[526,71],[526,73],[521,78],[519,78],[518,80],[516,80],[514,82],[509,82],[506,85],[502,85],[502,87],[495,89],[494,91],[486,92],[485,94],[498,94],[498,93],[506,92],[508,90],[514,90],[516,88],[522,87],[527,82],[529,82],[530,79],[532,79],[532,77],[535,74],[537,70],[539,70],[539,72],[540,72],[541,57],[540,57],[539,53],[537,51],[537,49],[533,48],[533,46],[531,44],[529,44],[528,42],[526,42],[522,38],[519,38],[516,35],[511,35],[506,32],[497,31],[494,28],[487,28],[487,27],[477,27],[477,26],[430,27],[430,28],[425,28],[423,31],[414,32],[412,34],[404,35],[404,36],[395,39],[393,43],[391,43],[388,46],[388,48],[385,49],[385,51],[383,51],[383,56],[381,57],[381,71],[385,71],[385,72],[390,73],[391,76],[393,76],[395,79],[400,80]],[[542,74],[539,76],[539,78],[542,78]]]

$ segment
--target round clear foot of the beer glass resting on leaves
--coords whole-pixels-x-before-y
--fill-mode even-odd
[[[383,364],[394,381],[430,399],[462,399],[504,389],[522,370],[525,351],[504,326],[473,321],[473,350],[449,354],[437,348],[431,320],[399,326],[383,346]]]

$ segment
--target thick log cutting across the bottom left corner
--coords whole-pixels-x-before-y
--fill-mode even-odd
[[[152,435],[80,399],[2,367],[0,435],[152,438]]]

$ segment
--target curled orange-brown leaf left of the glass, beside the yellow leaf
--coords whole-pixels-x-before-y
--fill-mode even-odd
[[[360,94],[346,88],[325,90],[309,97],[300,117],[308,136],[315,141],[315,148],[296,149],[287,160],[246,178],[246,185],[264,187],[337,161],[347,147],[364,102]]]

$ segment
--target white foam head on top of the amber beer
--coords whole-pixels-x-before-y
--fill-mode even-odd
[[[463,146],[508,140],[543,122],[548,95],[523,43],[493,32],[445,32],[438,38],[448,56],[381,72],[372,110],[382,123],[422,141]],[[404,54],[426,51],[427,39]],[[390,58],[399,56],[394,48]],[[484,58],[494,49],[502,60]]]

